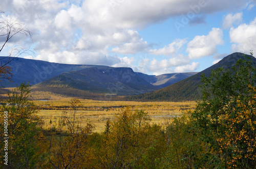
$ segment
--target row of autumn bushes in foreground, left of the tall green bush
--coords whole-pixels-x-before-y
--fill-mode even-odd
[[[151,124],[147,112],[126,108],[106,121],[104,132],[93,133],[91,124],[81,126],[80,101],[72,99],[72,109],[63,111],[55,131],[42,131],[29,93],[30,86],[23,83],[9,94],[11,106],[3,107],[9,113],[10,149],[8,165],[2,160],[1,168],[183,168],[196,166],[200,158],[195,154],[201,143],[187,117],[159,126]]]

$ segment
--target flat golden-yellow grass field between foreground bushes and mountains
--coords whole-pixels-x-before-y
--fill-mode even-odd
[[[45,121],[45,129],[58,128],[62,112],[70,111],[69,101],[34,101],[40,109],[38,116]],[[162,124],[166,119],[187,114],[196,106],[196,102],[80,101],[82,106],[77,111],[77,120],[81,121],[82,126],[92,123],[95,132],[104,131],[106,120],[114,119],[126,107],[131,110],[144,110],[151,117],[152,123]]]

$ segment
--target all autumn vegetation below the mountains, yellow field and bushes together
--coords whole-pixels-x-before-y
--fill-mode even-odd
[[[248,58],[212,70],[197,103],[31,101],[22,83],[2,106],[1,168],[255,168],[255,80]]]

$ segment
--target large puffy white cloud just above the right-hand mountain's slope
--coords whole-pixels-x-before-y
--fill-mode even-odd
[[[223,44],[223,32],[219,28],[212,28],[208,35],[196,36],[187,45],[188,57],[198,59],[217,52],[217,45]]]

